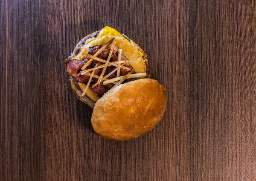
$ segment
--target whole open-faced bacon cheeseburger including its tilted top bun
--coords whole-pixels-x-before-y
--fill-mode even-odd
[[[91,123],[100,136],[133,139],[163,117],[166,89],[149,78],[145,52],[115,29],[106,26],[84,37],[66,67],[74,93],[93,108]]]

